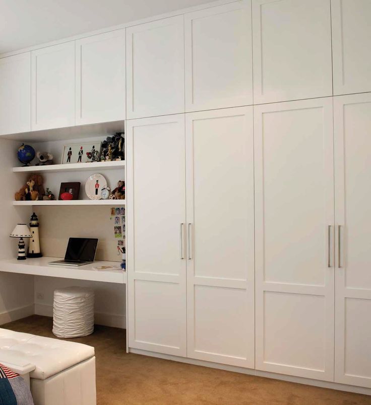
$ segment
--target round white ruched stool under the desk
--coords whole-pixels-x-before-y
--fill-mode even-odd
[[[54,291],[53,334],[58,338],[79,338],[94,332],[94,291],[66,287]]]

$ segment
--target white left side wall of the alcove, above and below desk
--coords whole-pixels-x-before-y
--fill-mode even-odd
[[[0,140],[3,189],[0,199],[0,259],[17,256],[19,239],[9,235],[17,223],[27,223],[30,216],[29,207],[12,205],[14,192],[22,186],[22,180],[11,171],[18,161],[16,156],[19,146],[19,142]],[[0,325],[33,313],[33,287],[33,276],[0,272]]]

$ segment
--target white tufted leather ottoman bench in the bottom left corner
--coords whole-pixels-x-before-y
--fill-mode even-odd
[[[0,362],[34,365],[35,405],[96,405],[94,348],[0,329]]]

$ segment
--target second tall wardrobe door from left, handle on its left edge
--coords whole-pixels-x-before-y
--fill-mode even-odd
[[[188,357],[254,368],[252,107],[186,114]]]

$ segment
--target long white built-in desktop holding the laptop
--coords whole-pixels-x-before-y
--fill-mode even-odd
[[[71,278],[76,280],[102,281],[106,283],[125,284],[127,274],[122,270],[94,270],[97,266],[118,266],[119,262],[94,262],[80,267],[53,266],[49,262],[60,258],[42,257],[39,259],[0,260],[0,271],[7,273],[32,274],[35,276],[49,276]]]

